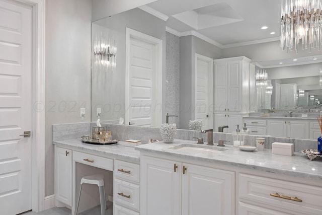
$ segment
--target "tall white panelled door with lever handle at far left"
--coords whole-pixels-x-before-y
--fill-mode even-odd
[[[0,213],[32,208],[32,8],[0,0]]]

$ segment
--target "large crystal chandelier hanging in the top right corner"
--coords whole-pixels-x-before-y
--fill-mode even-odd
[[[322,7],[320,0],[282,0],[281,5],[281,47],[295,49],[302,43],[302,49],[321,48]],[[321,28],[321,29],[320,29]]]

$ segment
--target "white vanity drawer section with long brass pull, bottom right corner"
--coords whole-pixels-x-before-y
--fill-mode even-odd
[[[322,187],[308,184],[239,173],[238,214],[322,214]]]

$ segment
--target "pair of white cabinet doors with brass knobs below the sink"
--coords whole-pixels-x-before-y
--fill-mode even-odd
[[[141,214],[234,214],[234,173],[141,157]]]

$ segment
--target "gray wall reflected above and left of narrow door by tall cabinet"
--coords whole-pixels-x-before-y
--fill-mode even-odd
[[[221,49],[195,36],[180,37],[180,128],[194,119],[195,54],[222,58]]]

